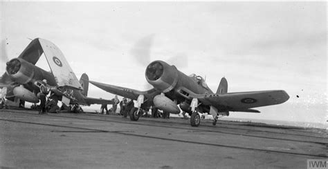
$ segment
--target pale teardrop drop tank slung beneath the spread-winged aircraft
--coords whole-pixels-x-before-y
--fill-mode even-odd
[[[157,95],[156,97],[154,97],[153,101],[154,101],[154,105],[157,108],[159,108],[165,112],[170,112],[172,114],[180,113],[180,109],[176,105],[176,103],[174,103],[174,101],[172,101],[168,97],[165,97],[165,95]]]

